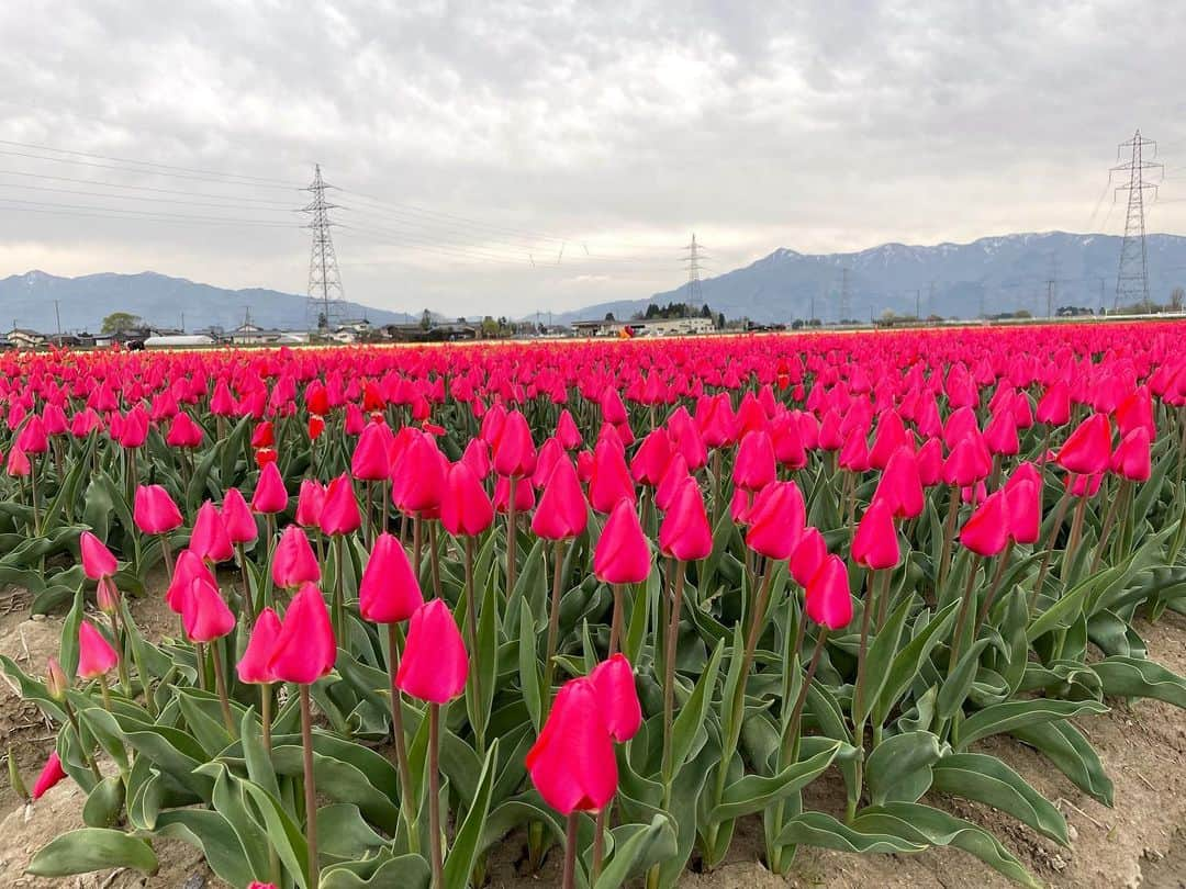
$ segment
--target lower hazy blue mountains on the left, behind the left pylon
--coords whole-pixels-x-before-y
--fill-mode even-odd
[[[229,290],[155,271],[81,277],[27,271],[0,279],[0,328],[7,330],[12,325],[43,333],[58,330],[58,315],[63,331],[89,330],[94,333],[111,312],[129,312],[149,324],[196,331],[210,326],[231,330],[243,324],[250,311],[251,321],[261,327],[295,330],[306,327],[311,321],[315,324],[315,318],[308,319],[307,305],[305,296],[293,293],[257,287]],[[402,312],[387,312],[357,302],[346,302],[343,315],[366,318],[371,324],[413,320]]]

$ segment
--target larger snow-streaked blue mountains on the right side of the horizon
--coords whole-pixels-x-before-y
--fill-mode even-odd
[[[1045,315],[1053,308],[1112,307],[1122,238],[1061,231],[984,237],[970,244],[933,247],[882,244],[846,254],[801,254],[782,248],[769,256],[701,282],[701,302],[727,318],[764,324],[818,318],[840,320],[841,294],[848,316],[869,320],[892,311],[975,318],[1026,309]],[[1149,298],[1168,302],[1186,286],[1186,237],[1146,238]],[[846,273],[847,269],[847,273]],[[1102,289],[1101,289],[1102,288]],[[648,303],[686,302],[688,284],[649,299],[587,306],[560,316],[565,322],[617,319],[645,311]]]

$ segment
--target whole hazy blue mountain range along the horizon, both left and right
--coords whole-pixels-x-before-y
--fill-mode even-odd
[[[913,315],[975,318],[1026,309],[1045,315],[1047,300],[1060,306],[1111,308],[1121,238],[1061,231],[986,237],[969,244],[933,247],[882,244],[844,254],[801,254],[780,248],[769,256],[701,282],[701,301],[727,318],[771,324],[795,319],[868,320],[886,311]],[[1174,287],[1186,286],[1186,237],[1146,238],[1149,296],[1168,302]],[[646,299],[587,306],[554,318],[561,322],[598,320],[612,313],[627,319],[648,303],[688,300],[688,286]],[[305,296],[280,290],[231,290],[154,271],[104,273],[57,277],[28,271],[0,280],[0,328],[9,324],[43,332],[97,331],[111,312],[130,312],[160,326],[190,331],[217,325],[230,330],[251,320],[263,327],[302,328],[311,321]],[[347,318],[372,324],[419,320],[357,302],[344,306]]]

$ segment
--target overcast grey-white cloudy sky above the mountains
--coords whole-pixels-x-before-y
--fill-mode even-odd
[[[1186,17],[1077,0],[60,0],[0,6],[0,276],[152,269],[304,293],[320,162],[346,295],[574,308],[778,247],[1118,232],[1166,164]],[[192,7],[183,9],[181,7]]]

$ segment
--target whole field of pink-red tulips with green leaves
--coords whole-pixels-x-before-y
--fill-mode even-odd
[[[0,657],[56,733],[9,776],[85,794],[28,874],[663,889],[747,831],[1040,885],[1000,742],[1110,806],[1092,719],[1186,708],[1137,627],[1186,614],[1184,334],[5,354],[0,581],[62,620]]]

